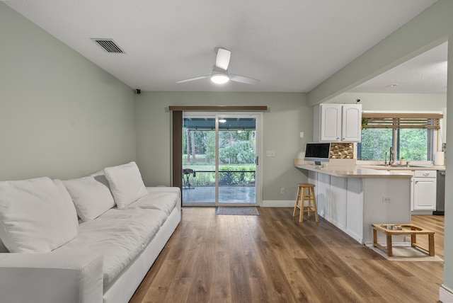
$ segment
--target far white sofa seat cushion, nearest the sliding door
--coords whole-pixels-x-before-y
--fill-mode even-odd
[[[179,188],[178,188],[179,189]],[[176,203],[179,201],[179,192],[171,192],[164,190],[148,190],[148,194],[139,198],[129,207],[140,207],[154,210],[162,210],[170,215]]]

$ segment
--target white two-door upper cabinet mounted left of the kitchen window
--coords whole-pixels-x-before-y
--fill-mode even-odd
[[[315,142],[360,142],[362,105],[320,104],[314,107]]]

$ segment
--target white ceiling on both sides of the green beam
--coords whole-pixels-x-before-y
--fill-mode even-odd
[[[263,92],[310,91],[435,2],[4,1],[131,88]],[[112,38],[125,54],[109,54],[91,38]],[[231,50],[231,74],[260,79],[260,84],[230,81],[218,86],[208,79],[176,84],[210,74],[215,47]],[[446,60],[446,46],[432,54],[406,62],[397,72],[387,72],[356,91],[380,91],[398,83],[394,91],[404,87],[405,92],[445,92],[446,72],[427,78],[425,68]]]

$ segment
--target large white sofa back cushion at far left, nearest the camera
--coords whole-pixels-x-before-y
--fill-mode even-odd
[[[74,239],[78,228],[61,181],[0,182],[0,239],[11,253],[48,253]]]

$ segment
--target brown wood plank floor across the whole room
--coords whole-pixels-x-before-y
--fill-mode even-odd
[[[299,223],[292,208],[259,212],[183,208],[130,302],[437,302],[443,262],[386,261],[321,217]],[[413,223],[435,231],[443,258],[443,217]]]

